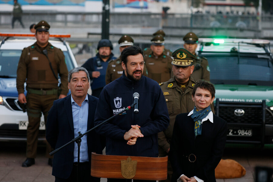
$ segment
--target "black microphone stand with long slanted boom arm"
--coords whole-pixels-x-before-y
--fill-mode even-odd
[[[113,119],[114,117],[120,115],[120,114],[123,113],[124,111],[130,110],[130,109],[133,108],[133,107],[134,107],[134,104],[132,104],[131,106],[126,107],[125,110],[120,111],[120,112],[117,113],[116,115],[110,117],[109,119],[103,121],[102,123],[99,123],[97,126],[91,128],[90,130],[86,131],[86,132],[83,133],[83,134],[79,131],[79,132],[78,132],[78,133],[79,133],[79,136],[77,136],[76,138],[74,138],[74,139],[71,140],[70,142],[64,144],[62,147],[53,150],[52,152],[49,153],[49,155],[52,156],[53,154],[57,153],[57,152],[58,152],[60,149],[62,149],[63,147],[66,147],[67,145],[69,145],[69,144],[72,143],[72,142],[76,142],[76,143],[78,144],[77,182],[79,182],[79,173],[78,173],[78,171],[79,171],[79,153],[80,153],[80,146],[81,146],[81,142],[82,142],[82,139],[81,139],[81,138],[82,138],[84,135],[86,135],[87,133],[89,133],[90,131],[94,130],[96,127],[102,125],[103,123],[106,123],[107,121],[109,121],[109,120]]]

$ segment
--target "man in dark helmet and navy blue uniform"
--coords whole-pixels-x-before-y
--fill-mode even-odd
[[[102,39],[98,43],[99,51],[95,57],[88,59],[82,67],[87,69],[91,80],[92,96],[99,98],[99,95],[105,83],[106,69],[110,60],[116,59],[112,50],[112,42],[108,39]]]

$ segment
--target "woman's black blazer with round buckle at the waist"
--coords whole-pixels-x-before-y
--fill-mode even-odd
[[[187,177],[216,182],[214,170],[221,160],[227,138],[227,122],[213,114],[213,123],[202,123],[202,135],[194,138],[194,121],[188,113],[175,118],[174,132],[170,144],[170,162],[173,168],[171,181],[184,174]],[[190,163],[187,157],[193,153],[196,161]],[[184,156],[183,156],[184,155]]]

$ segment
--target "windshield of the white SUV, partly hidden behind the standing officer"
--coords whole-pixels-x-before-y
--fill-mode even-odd
[[[16,78],[17,66],[22,50],[0,50],[0,78]],[[68,70],[74,68],[72,60],[67,51],[64,51],[66,66]]]

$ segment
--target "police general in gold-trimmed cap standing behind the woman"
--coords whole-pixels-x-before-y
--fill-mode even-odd
[[[174,121],[177,114],[187,113],[193,110],[191,93],[195,80],[190,76],[194,70],[193,60],[195,56],[186,49],[177,49],[172,56],[172,70],[174,76],[165,83],[160,83],[170,116],[170,125],[167,130],[158,133],[159,156],[165,157],[170,150]],[[170,181],[172,168],[168,161],[168,176]]]

